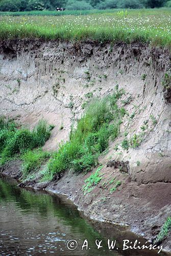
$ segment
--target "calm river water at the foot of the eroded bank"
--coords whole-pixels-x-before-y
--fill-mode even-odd
[[[75,250],[67,248],[72,239],[78,243]],[[81,250],[86,239],[88,247]],[[109,250],[108,239],[116,240],[115,249]],[[19,188],[13,179],[0,176],[0,255],[165,255],[123,251],[123,239],[144,242],[124,228],[85,220],[64,198]],[[97,249],[95,240],[102,240],[103,247]]]

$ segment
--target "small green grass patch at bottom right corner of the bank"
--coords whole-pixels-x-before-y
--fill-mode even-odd
[[[156,239],[153,241],[153,244],[161,244],[161,242],[167,237],[168,233],[171,231],[171,218],[168,217],[164,222],[159,234]]]

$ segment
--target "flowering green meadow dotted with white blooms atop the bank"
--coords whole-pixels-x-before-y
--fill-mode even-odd
[[[27,14],[25,16],[3,16],[4,13],[2,13],[0,38],[44,38],[71,41],[91,39],[100,43],[139,41],[154,46],[168,48],[171,46],[171,9],[128,10],[120,13],[116,9],[21,13]],[[20,15],[20,13],[17,14]],[[17,14],[8,13],[8,15]],[[38,16],[39,14],[42,15]],[[57,16],[46,16],[49,14]]]

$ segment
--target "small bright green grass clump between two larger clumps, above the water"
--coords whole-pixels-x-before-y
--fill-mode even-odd
[[[48,152],[44,152],[41,150],[41,148],[38,148],[34,151],[28,151],[25,154],[21,156],[21,159],[23,160],[22,164],[22,178],[26,179],[32,173],[35,172],[40,168],[42,163],[50,158],[51,154]]]

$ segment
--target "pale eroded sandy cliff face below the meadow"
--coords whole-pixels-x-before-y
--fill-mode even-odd
[[[54,150],[61,139],[68,138],[71,123],[81,116],[92,97],[112,93],[116,84],[125,90],[120,105],[127,115],[120,135],[100,158],[105,178],[116,175],[123,181],[122,189],[114,197],[104,192],[109,201],[101,206],[102,187],[96,188],[95,199],[94,192],[83,196],[82,175],[73,181],[65,175],[53,189],[71,195],[87,215],[130,224],[149,236],[155,234],[171,213],[171,96],[161,84],[171,68],[169,51],[140,44],[26,39],[2,41],[0,49],[1,114],[24,124],[34,125],[41,117],[54,123],[46,149]],[[124,150],[120,146],[125,133],[130,139],[142,132],[138,147]],[[129,172],[106,167],[109,160],[129,161]],[[79,196],[74,188],[78,184]]]

